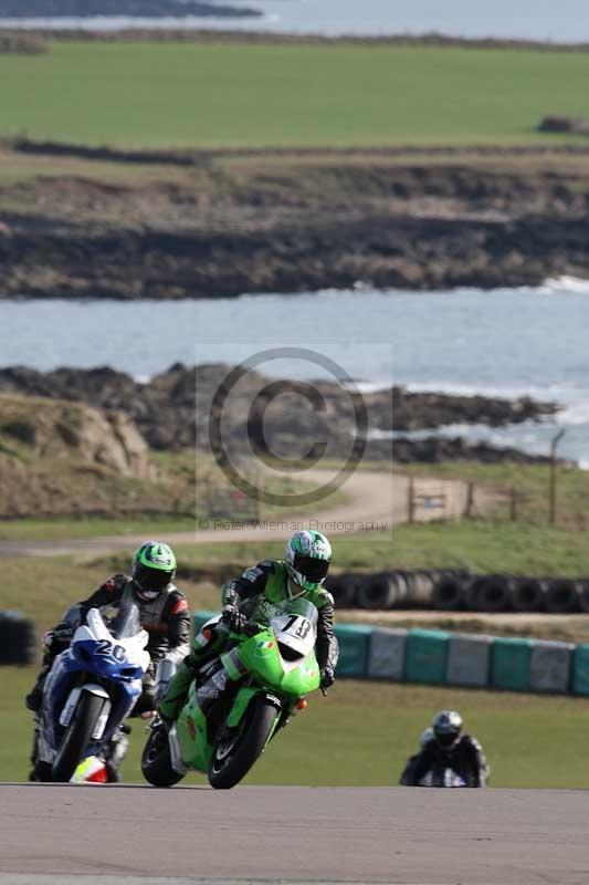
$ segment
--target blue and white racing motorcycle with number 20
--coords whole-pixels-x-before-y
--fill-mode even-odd
[[[39,759],[53,781],[70,781],[87,757],[105,757],[108,743],[141,694],[149,667],[148,634],[139,608],[123,596],[112,618],[91,608],[70,648],[48,674],[39,722]]]

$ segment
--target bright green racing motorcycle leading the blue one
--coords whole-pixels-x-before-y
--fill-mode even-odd
[[[203,662],[178,719],[167,731],[151,726],[141,771],[155,787],[171,787],[190,771],[201,771],[215,789],[228,790],[250,771],[277,730],[306,707],[305,695],[319,688],[315,657],[317,608],[307,600],[263,603],[245,635],[222,637],[224,650]],[[217,632],[221,616],[203,626]],[[224,668],[228,689],[208,710],[197,701],[198,687]]]

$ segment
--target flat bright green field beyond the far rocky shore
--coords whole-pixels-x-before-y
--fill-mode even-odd
[[[582,53],[53,43],[0,56],[1,135],[124,146],[514,144],[587,114]],[[553,137],[554,140],[554,137]]]

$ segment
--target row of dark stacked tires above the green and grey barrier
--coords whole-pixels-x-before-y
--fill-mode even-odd
[[[344,572],[329,576],[326,585],[339,608],[589,613],[589,579],[419,569]]]

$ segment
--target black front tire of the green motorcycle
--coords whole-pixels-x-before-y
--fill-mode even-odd
[[[266,746],[266,741],[278,710],[264,697],[257,696],[250,704],[246,721],[229,753],[218,759],[215,748],[209,766],[209,783],[215,790],[230,790],[250,771]]]

